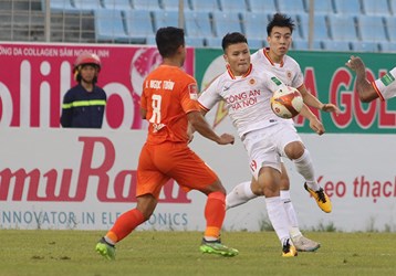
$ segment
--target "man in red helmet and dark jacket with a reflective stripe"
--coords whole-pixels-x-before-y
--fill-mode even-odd
[[[101,128],[106,106],[106,93],[96,86],[101,60],[96,54],[82,53],[74,63],[74,79],[79,83],[64,95],[62,127]]]

